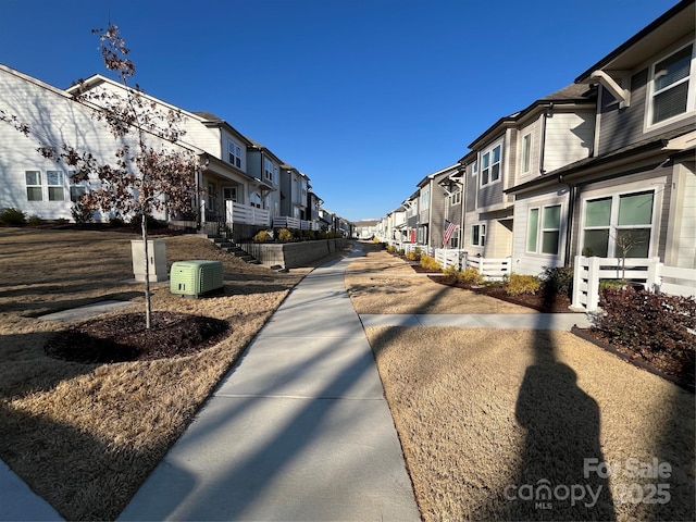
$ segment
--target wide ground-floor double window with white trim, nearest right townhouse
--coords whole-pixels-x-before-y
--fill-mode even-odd
[[[655,192],[633,192],[585,202],[583,256],[647,258]]]

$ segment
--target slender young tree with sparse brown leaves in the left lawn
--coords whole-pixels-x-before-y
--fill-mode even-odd
[[[89,89],[80,80],[76,101],[91,108],[92,117],[103,122],[114,137],[115,160],[100,161],[89,150],[78,150],[71,144],[42,146],[37,150],[45,158],[64,162],[74,169],[73,183],[98,186],[82,196],[86,210],[113,212],[116,215],[138,215],[145,248],[146,326],[152,327],[150,302],[150,270],[148,253],[148,216],[163,212],[169,216],[192,210],[196,196],[196,154],[175,144],[184,135],[179,111],[162,110],[148,100],[139,86],[130,87],[135,65],[127,58],[129,50],[119,28],[109,24],[94,29],[99,35],[104,65],[115,72],[123,84],[123,94]],[[29,136],[34,133],[15,115],[0,110],[0,121]],[[37,134],[40,129],[37,129]],[[169,144],[169,146],[166,145]],[[157,147],[157,148],[156,148]]]

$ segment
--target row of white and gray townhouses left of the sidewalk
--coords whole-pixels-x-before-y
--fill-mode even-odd
[[[79,92],[78,92],[79,90]],[[26,137],[0,122],[0,209],[15,208],[45,220],[72,219],[79,196],[96,186],[75,184],[71,167],[37,153],[39,146],[67,144],[112,163],[117,145],[109,128],[96,121],[95,107],[77,100],[77,94],[104,92],[125,97],[125,87],[102,75],[62,90],[0,64],[0,110],[27,124]],[[156,135],[156,147],[182,148],[198,158],[195,215],[157,215],[210,234],[232,231],[236,239],[251,237],[260,227],[290,227],[350,235],[350,224],[326,210],[312,190],[310,178],[268,147],[243,135],[225,120],[209,112],[189,112],[149,95],[157,110],[176,111],[184,119],[184,135],[171,144]],[[127,137],[124,139],[128,139]],[[89,186],[86,186],[89,185]],[[98,221],[109,215],[96,214]]]

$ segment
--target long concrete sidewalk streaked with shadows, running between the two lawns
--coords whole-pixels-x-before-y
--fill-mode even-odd
[[[420,520],[349,262],[289,294],[120,520]]]

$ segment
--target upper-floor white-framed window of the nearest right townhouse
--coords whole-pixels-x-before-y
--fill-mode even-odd
[[[648,109],[650,125],[694,110],[695,96],[689,92],[689,82],[693,82],[694,75],[693,49],[693,45],[687,46],[654,65]]]

